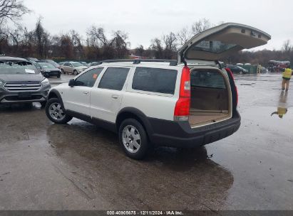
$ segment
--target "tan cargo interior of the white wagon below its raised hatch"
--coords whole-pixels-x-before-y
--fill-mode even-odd
[[[192,76],[192,72],[197,72],[197,74],[199,73],[200,75]],[[202,85],[202,82],[198,81],[202,79],[201,75],[204,73],[214,74],[210,76],[210,80],[207,80],[207,78],[204,79],[205,82],[209,84],[209,82],[213,82],[212,79],[215,78],[218,82],[214,85],[215,87],[211,85],[205,87],[205,85]],[[200,84],[200,86],[197,86],[198,84]],[[222,75],[220,71],[191,70],[190,126],[202,126],[229,119],[231,117],[230,91],[227,77]]]

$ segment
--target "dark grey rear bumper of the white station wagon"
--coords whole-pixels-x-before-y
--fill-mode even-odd
[[[152,128],[151,131],[147,129],[148,135],[153,144],[193,148],[210,144],[235,133],[240,127],[241,118],[236,112],[231,119],[196,129],[190,128],[187,121],[176,122],[152,118],[148,120]]]

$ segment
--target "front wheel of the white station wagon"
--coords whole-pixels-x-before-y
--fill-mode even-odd
[[[54,97],[48,99],[45,110],[48,119],[50,119],[54,123],[66,124],[68,121],[72,119],[71,116],[66,114],[66,111],[58,98]]]

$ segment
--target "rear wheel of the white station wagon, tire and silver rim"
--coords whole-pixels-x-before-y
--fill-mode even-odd
[[[123,151],[130,158],[143,159],[150,149],[148,135],[135,119],[125,119],[119,126],[118,136]]]

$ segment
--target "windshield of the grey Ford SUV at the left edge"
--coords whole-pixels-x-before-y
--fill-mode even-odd
[[[39,74],[38,69],[26,61],[0,60],[0,74]]]

